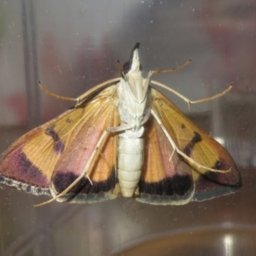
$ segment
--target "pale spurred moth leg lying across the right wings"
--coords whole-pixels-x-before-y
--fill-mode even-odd
[[[184,154],[182,150],[180,150],[179,148],[177,148],[176,143],[173,141],[172,137],[170,136],[170,134],[168,133],[168,131],[166,130],[165,125],[163,125],[163,123],[161,122],[159,116],[157,115],[157,113],[154,112],[153,109],[151,109],[151,113],[154,116],[154,119],[158,122],[158,124],[160,125],[161,129],[164,131],[166,137],[168,138],[169,142],[172,145],[173,151],[176,151],[177,154],[181,155],[185,160],[187,160],[190,164],[196,166],[199,169],[205,169],[207,171],[210,172],[220,172],[220,173],[226,173],[226,172],[230,172],[231,168],[229,170],[217,170],[217,169],[212,169],[209,168],[207,166],[202,166],[201,164],[199,164],[198,162],[196,162],[195,160],[193,160],[192,158],[190,158],[187,154]],[[173,153],[172,153],[173,154]],[[172,157],[172,155],[171,155]]]

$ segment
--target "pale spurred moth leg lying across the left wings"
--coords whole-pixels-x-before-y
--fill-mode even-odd
[[[88,172],[88,170],[89,170],[89,168],[90,168],[91,162],[92,162],[92,160],[94,159],[94,157],[95,157],[95,155],[96,155],[98,149],[101,147],[104,138],[108,135],[108,132],[109,132],[109,131],[107,131],[107,130],[103,131],[102,136],[99,138],[98,142],[96,143],[96,147],[94,148],[92,154],[90,155],[90,159],[88,160],[88,162],[86,163],[86,166],[84,167],[84,171],[81,172],[81,174],[79,175],[79,177],[78,177],[76,180],[74,180],[73,183],[71,183],[71,184],[67,187],[67,189],[64,189],[60,194],[55,195],[55,197],[53,197],[53,198],[50,199],[49,201],[44,201],[43,203],[38,204],[38,205],[35,205],[34,207],[42,207],[42,206],[44,206],[44,205],[46,205],[46,204],[49,204],[49,203],[52,202],[52,201],[55,201],[56,199],[58,199],[58,198],[61,197],[62,195],[66,195],[67,192],[68,192],[70,189],[72,189],[77,183],[79,183],[79,181],[80,181],[84,176],[88,177],[87,172]],[[89,177],[88,177],[88,178],[89,178]],[[90,181],[90,178],[89,178],[89,181]],[[91,181],[90,181],[90,183],[91,183]]]

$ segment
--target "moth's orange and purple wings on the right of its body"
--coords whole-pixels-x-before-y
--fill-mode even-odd
[[[199,170],[176,153],[172,155],[173,150],[166,135],[160,129],[160,125],[155,120],[151,120],[146,125],[148,128],[146,166],[140,182],[142,195],[139,200],[162,204],[174,200],[172,204],[182,204],[187,200],[188,195],[195,201],[201,201],[213,196],[229,194],[240,188],[241,176],[230,154],[205,131],[191,122],[159,91],[151,89],[151,96],[151,108],[158,114],[173,141],[184,154],[201,166],[231,171],[217,173],[206,169]],[[172,160],[168,163],[171,155]],[[191,176],[189,176],[189,170]],[[154,172],[158,172],[157,178],[152,175]],[[178,187],[177,190],[175,186]],[[170,189],[172,187],[174,189]],[[179,198],[177,201],[176,197]]]

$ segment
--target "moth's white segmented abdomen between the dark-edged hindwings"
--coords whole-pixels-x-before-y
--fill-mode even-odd
[[[143,138],[127,137],[126,132],[119,134],[118,177],[123,196],[131,197],[137,189],[142,173],[143,160]]]

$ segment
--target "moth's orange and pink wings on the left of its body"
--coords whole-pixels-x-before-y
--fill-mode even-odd
[[[67,188],[83,172],[102,132],[118,125],[116,86],[113,85],[90,96],[90,101],[78,108],[70,109],[20,137],[1,157],[0,173],[3,176],[0,182],[36,195],[53,195],[63,186]],[[85,192],[97,196],[84,196],[83,201],[101,201],[116,196],[116,143],[115,134],[109,133],[97,150],[88,172],[95,186],[92,189],[85,186]],[[90,182],[84,178],[70,191],[71,195],[85,193],[80,191],[81,183],[84,186]],[[73,201],[79,200],[77,196]]]

